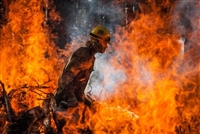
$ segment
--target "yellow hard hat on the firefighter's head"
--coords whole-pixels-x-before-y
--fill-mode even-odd
[[[110,44],[110,32],[103,26],[97,26],[90,32],[90,36],[97,40],[103,40]]]

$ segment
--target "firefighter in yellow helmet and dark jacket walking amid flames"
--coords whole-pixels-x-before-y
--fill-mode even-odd
[[[57,106],[76,107],[79,102],[85,101],[84,90],[93,71],[94,55],[104,53],[107,44],[110,44],[110,32],[103,26],[95,27],[89,35],[90,40],[71,55],[58,80],[55,92]]]

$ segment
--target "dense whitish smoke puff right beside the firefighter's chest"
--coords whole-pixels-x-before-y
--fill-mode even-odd
[[[123,83],[126,76],[122,69],[114,68],[110,62],[113,53],[97,53],[95,55],[94,71],[86,87],[96,100],[106,100],[114,92],[117,84]]]

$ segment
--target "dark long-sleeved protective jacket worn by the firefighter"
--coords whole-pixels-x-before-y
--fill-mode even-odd
[[[85,47],[77,49],[69,58],[58,80],[55,93],[57,105],[73,97],[76,97],[78,102],[84,101],[84,90],[93,71],[94,55],[100,51],[94,46],[98,47],[99,44],[95,40],[88,41]]]

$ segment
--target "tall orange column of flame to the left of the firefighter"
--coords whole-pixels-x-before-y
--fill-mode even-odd
[[[24,100],[12,100],[16,111],[22,110],[18,103],[26,103],[29,109],[40,104],[37,99],[44,97],[43,92],[54,91],[62,67],[58,48],[49,30],[44,28],[45,15],[41,7],[42,3],[35,0],[11,2],[8,23],[1,29],[0,80],[5,83],[7,93],[11,90],[26,92]],[[45,86],[46,91],[34,93]]]

